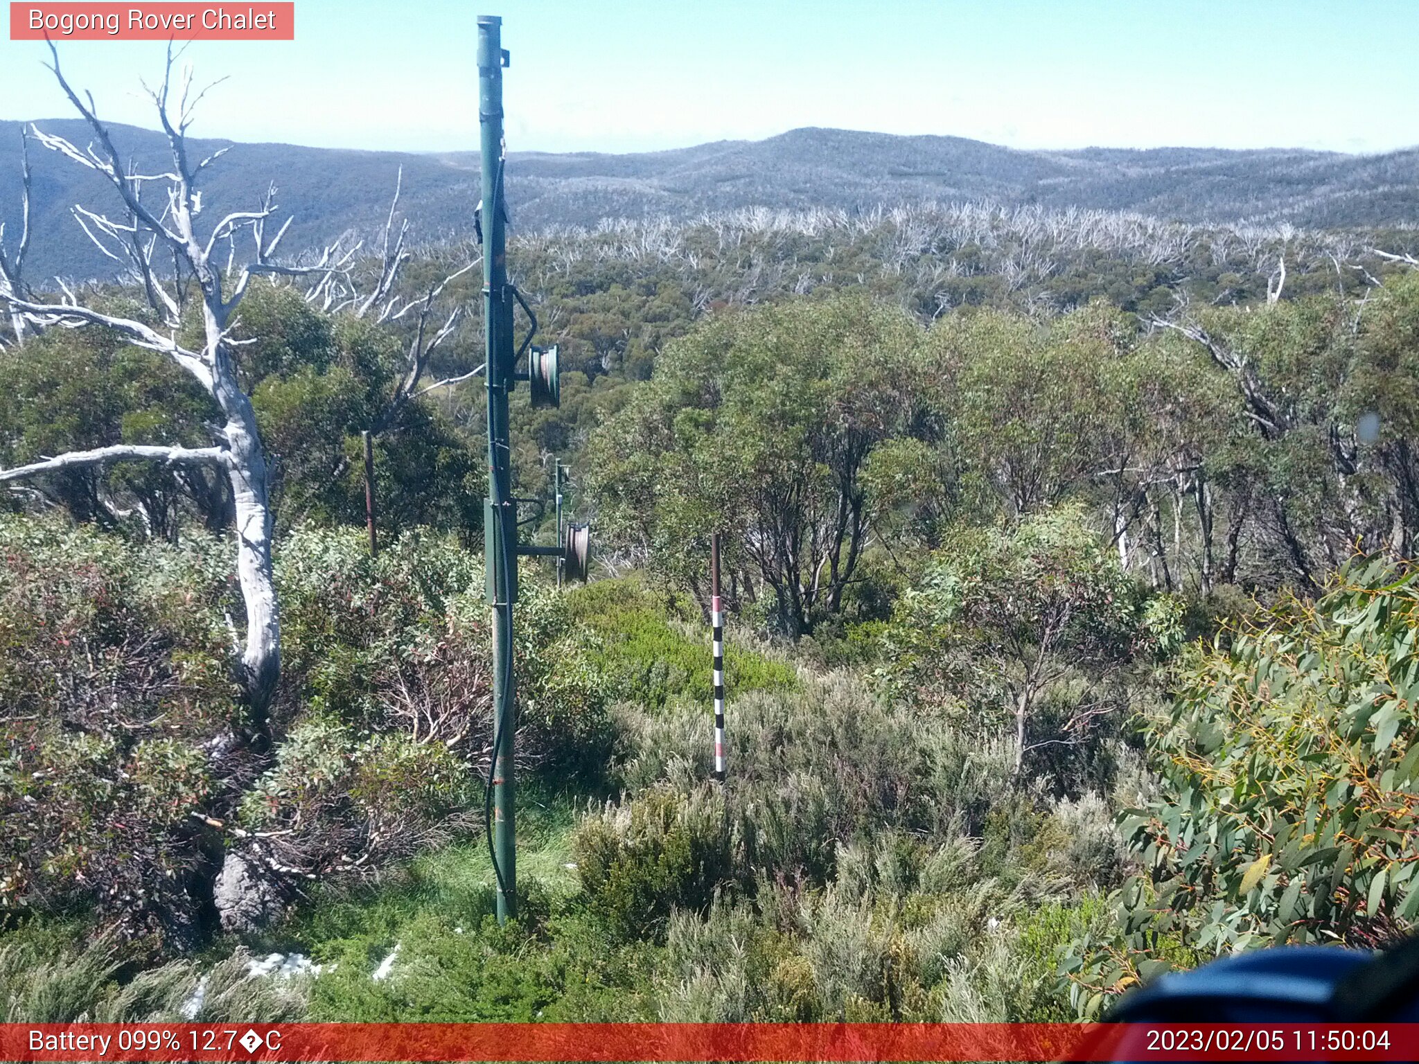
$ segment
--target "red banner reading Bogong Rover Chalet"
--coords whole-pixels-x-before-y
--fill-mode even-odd
[[[11,41],[294,41],[294,3],[11,3]]]

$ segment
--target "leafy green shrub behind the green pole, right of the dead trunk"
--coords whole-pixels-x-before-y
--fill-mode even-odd
[[[362,735],[402,731],[460,753],[488,745],[492,633],[477,556],[447,538],[407,535],[372,559],[355,529],[302,529],[280,559],[292,704]],[[531,579],[515,633],[519,759],[596,775],[612,732],[586,634],[562,596]]]

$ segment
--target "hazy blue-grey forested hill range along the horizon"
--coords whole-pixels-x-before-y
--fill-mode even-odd
[[[78,121],[38,123],[88,143]],[[115,126],[139,163],[162,160],[165,139]],[[194,142],[214,150],[226,140]],[[0,122],[0,220],[18,223],[20,123]],[[31,143],[34,245],[30,278],[109,272],[70,218],[74,203],[108,203],[92,172]],[[399,169],[403,206],[423,241],[465,233],[478,197],[475,153],[416,155],[233,145],[210,172],[203,201],[213,221],[248,207],[275,183],[295,214],[288,250],[372,231]],[[687,220],[742,207],[867,209],[931,200],[1090,207],[1185,221],[1288,221],[1301,227],[1403,226],[1419,221],[1419,149],[1376,156],[1304,150],[1226,152],[1164,148],[1020,152],[952,136],[890,136],[795,129],[766,140],[727,140],[640,155],[514,153],[508,165],[514,223],[524,231],[593,226],[604,218]]]

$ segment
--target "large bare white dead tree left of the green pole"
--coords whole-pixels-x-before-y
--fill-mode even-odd
[[[304,275],[328,274],[343,267],[332,262],[328,251],[316,265],[278,265],[272,255],[285,235],[287,218],[274,235],[267,235],[267,221],[275,213],[272,193],[268,192],[257,210],[234,211],[223,217],[203,240],[196,227],[201,211],[199,176],[226,150],[196,160],[189,155],[187,128],[193,109],[206,89],[193,92],[192,74],[184,71],[180,84],[173,85],[173,51],[167,50],[163,81],[158,89],[145,85],[153,99],[159,122],[167,135],[172,169],[162,173],[140,173],[125,165],[108,128],[99,121],[91,94],[79,95],[70,87],[60,70],[60,58],[50,45],[50,70],[74,108],[94,132],[94,142],[84,150],[70,140],[34,129],[34,138],[44,148],[55,150],[79,166],[99,173],[112,184],[126,211],[126,218],[114,217],[81,207],[75,217],[89,238],[109,257],[129,262],[142,281],[159,328],[129,318],[102,314],[79,302],[65,288],[57,304],[37,302],[24,291],[9,284],[0,298],[11,314],[20,314],[26,323],[37,328],[78,328],[99,325],[125,336],[131,343],[170,358],[190,373],[214,400],[221,424],[213,427],[211,447],[115,445],[92,451],[71,451],[44,461],[11,470],[0,470],[0,482],[38,477],[55,470],[99,467],[119,461],[155,461],[166,465],[199,465],[217,471],[230,484],[236,539],[237,579],[245,603],[245,637],[233,636],[241,660],[238,680],[247,702],[244,731],[257,749],[270,745],[267,708],[281,670],[281,623],[277,610],[275,586],[271,570],[271,505],[270,474],[261,437],[257,431],[251,399],[243,392],[234,363],[238,340],[233,339],[236,311],[260,274]],[[209,87],[210,88],[210,87]],[[172,95],[177,99],[173,101]],[[173,115],[176,106],[176,116]],[[146,186],[162,186],[166,196],[160,209],[145,200]],[[253,257],[236,265],[228,254],[226,267],[213,264],[214,251],[226,241],[234,248],[237,234],[250,234]],[[159,262],[172,258],[172,275]],[[187,348],[179,342],[183,297],[196,287],[201,297],[201,343]]]

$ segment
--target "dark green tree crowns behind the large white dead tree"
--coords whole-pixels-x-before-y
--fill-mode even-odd
[[[143,319],[122,297],[102,309]],[[186,328],[194,328],[189,325]],[[253,400],[282,526],[365,519],[360,430],[393,396],[404,350],[389,329],[324,315],[288,285],[258,281],[234,326],[238,377]],[[170,359],[102,329],[53,329],[0,355],[0,465],[112,444],[210,445],[213,400]],[[473,539],[485,477],[478,450],[421,401],[376,440],[386,528],[433,525]],[[230,487],[217,471],[122,462],[50,474],[35,488],[75,519],[173,538],[189,515],[219,531]]]

